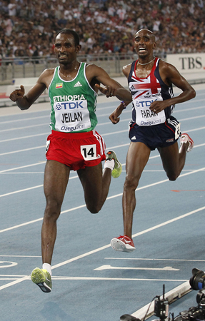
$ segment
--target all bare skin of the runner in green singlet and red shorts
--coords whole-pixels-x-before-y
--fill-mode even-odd
[[[59,75],[65,81],[71,81],[76,77],[80,63],[77,54],[81,45],[75,43],[73,34],[69,31],[60,32],[56,36],[54,52],[59,61]],[[28,109],[34,101],[49,88],[54,76],[55,68],[46,69],[39,76],[33,88],[25,95],[24,86],[13,91],[10,95],[12,101],[16,101],[21,110]],[[131,93],[126,91],[118,82],[110,78],[103,68],[94,64],[86,65],[86,78],[94,91],[100,90],[109,96],[116,96],[126,100],[131,98]],[[99,84],[105,87],[99,86]],[[98,213],[103,206],[109,185],[111,183],[111,169],[105,168],[102,175],[102,164],[77,170],[79,179],[84,189],[86,207],[91,213]],[[61,205],[69,182],[70,167],[57,161],[47,161],[44,173],[44,193],[46,196],[46,209],[41,229],[41,251],[43,263],[51,264],[51,259],[56,240],[56,220],[61,213]]]

